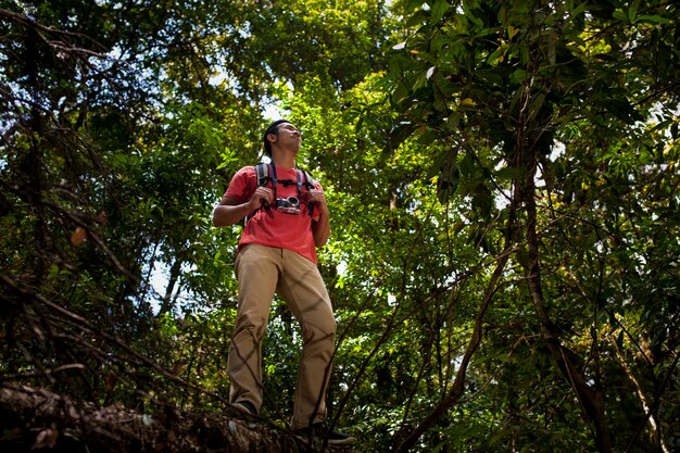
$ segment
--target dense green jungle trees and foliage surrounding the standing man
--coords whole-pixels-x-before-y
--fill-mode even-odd
[[[274,109],[329,201],[360,450],[680,449],[676,2],[0,0],[0,49],[2,382],[225,410],[211,211]]]

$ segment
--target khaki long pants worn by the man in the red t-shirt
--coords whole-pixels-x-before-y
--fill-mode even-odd
[[[336,319],[318,268],[293,251],[249,244],[239,251],[236,276],[239,302],[229,348],[229,401],[248,400],[257,410],[262,405],[262,340],[276,292],[294,314],[303,336],[291,428],[324,420]]]

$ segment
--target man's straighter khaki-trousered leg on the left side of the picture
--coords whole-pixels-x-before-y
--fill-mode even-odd
[[[279,249],[250,244],[239,251],[236,260],[239,302],[229,347],[229,402],[249,401],[256,412],[263,399],[262,339],[280,270],[280,254]]]

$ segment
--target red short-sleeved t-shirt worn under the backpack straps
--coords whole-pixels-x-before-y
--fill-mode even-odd
[[[295,169],[287,169],[276,167],[276,197],[298,197],[298,187],[295,184],[284,187],[282,180],[298,180]],[[323,190],[322,186],[314,181],[314,186],[318,190]],[[266,187],[272,188],[272,183],[267,183]],[[245,166],[239,169],[229,187],[225,192],[225,197],[229,197],[238,204],[245,203],[257,189],[257,176],[253,166]],[[302,188],[304,198],[306,189]],[[312,217],[307,214],[307,204],[302,200],[300,202],[300,214],[288,214],[278,212],[276,203],[270,203],[268,210],[261,209],[254,214],[250,213],[241,239],[239,240],[239,249],[248,243],[259,243],[261,246],[276,247],[292,250],[300,253],[314,264],[317,263],[316,247],[314,246],[314,235],[312,234]],[[315,219],[318,219],[317,213],[314,212]]]

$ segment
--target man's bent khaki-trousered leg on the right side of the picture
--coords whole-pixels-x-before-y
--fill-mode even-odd
[[[300,323],[303,337],[291,421],[291,428],[297,430],[326,418],[336,319],[326,285],[314,263],[284,250],[284,269],[277,290]]]

